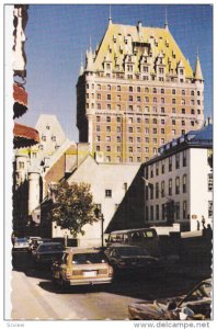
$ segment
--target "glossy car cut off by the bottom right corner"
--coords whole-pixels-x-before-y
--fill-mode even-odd
[[[174,298],[144,300],[128,306],[130,320],[204,320],[212,314],[212,280],[197,284],[189,294]]]

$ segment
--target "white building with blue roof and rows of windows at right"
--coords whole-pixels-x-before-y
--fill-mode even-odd
[[[213,125],[162,146],[145,163],[145,222],[180,224],[181,230],[213,227]]]

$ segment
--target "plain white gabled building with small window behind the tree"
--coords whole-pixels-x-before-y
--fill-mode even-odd
[[[135,180],[140,168],[140,163],[99,163],[89,156],[79,168],[68,179],[68,183],[85,182],[90,184],[93,194],[93,202],[104,216],[103,235],[106,232],[111,222],[115,218],[115,213],[123,204],[127,206],[125,200],[126,194],[129,193],[130,185]],[[137,186],[137,184],[136,184]],[[121,206],[122,204],[122,206]],[[129,218],[130,212],[130,218]],[[118,216],[117,226],[127,228],[129,226],[137,227],[142,225],[142,219],[139,219],[138,208],[127,209]],[[134,222],[135,218],[135,222]],[[124,222],[124,223],[123,223]],[[129,223],[130,222],[130,223]],[[135,226],[134,226],[135,225]],[[114,225],[115,227],[115,225]],[[79,246],[101,246],[102,242],[102,222],[93,225],[85,225],[83,227],[84,236],[78,236]]]

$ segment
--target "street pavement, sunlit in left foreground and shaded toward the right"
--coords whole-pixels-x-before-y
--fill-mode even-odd
[[[209,271],[178,266],[151,277],[118,277],[107,286],[81,286],[61,291],[52,282],[49,270],[36,269],[28,252],[13,253],[12,314],[19,319],[124,320],[135,300],[171,297],[189,292]]]

